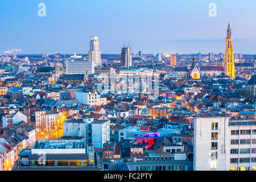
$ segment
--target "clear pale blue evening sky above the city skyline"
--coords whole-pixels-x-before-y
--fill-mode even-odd
[[[41,2],[46,17],[38,16]],[[135,53],[219,53],[228,23],[234,51],[255,54],[255,8],[255,0],[1,0],[0,55],[87,53],[90,36],[102,53],[120,53],[124,41]]]

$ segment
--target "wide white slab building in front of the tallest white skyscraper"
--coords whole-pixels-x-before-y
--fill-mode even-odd
[[[94,74],[93,61],[66,61],[66,74]]]

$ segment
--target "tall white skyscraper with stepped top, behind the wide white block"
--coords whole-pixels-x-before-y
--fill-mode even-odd
[[[88,53],[89,61],[94,62],[94,65],[101,65],[101,51],[100,42],[98,42],[97,36],[92,36],[90,40],[90,51]]]

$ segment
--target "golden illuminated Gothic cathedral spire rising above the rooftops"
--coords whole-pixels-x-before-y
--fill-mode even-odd
[[[225,43],[225,59],[222,63],[225,71],[225,75],[229,75],[234,78],[234,50],[233,50],[233,39],[231,38],[231,28],[228,25],[226,32],[226,43]]]

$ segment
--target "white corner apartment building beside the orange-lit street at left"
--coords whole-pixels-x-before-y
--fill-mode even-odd
[[[51,131],[59,119],[59,113],[52,110],[35,111],[36,132]]]

